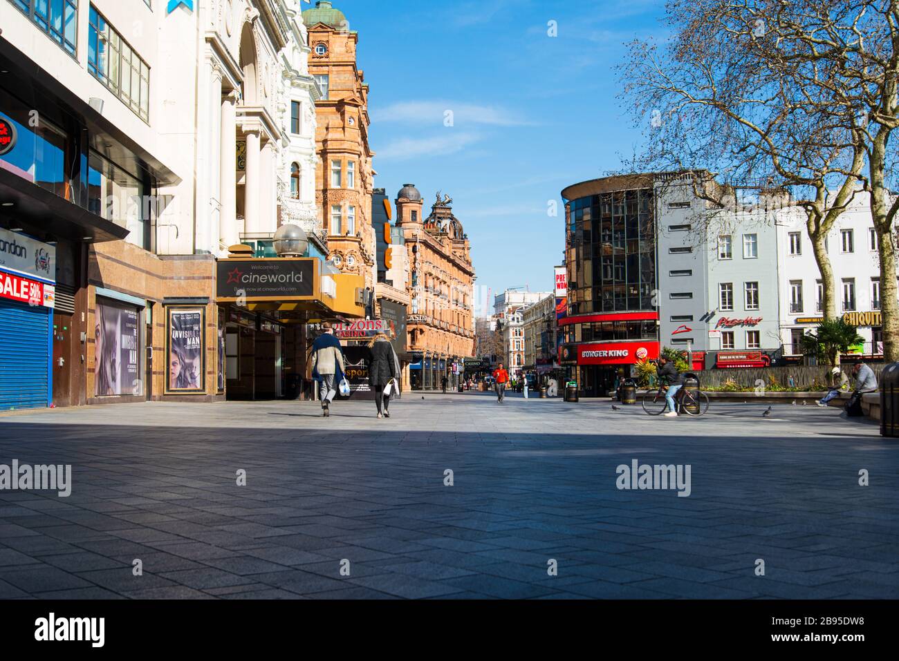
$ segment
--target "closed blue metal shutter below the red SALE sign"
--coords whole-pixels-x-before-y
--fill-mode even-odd
[[[0,410],[47,406],[49,308],[0,299]]]

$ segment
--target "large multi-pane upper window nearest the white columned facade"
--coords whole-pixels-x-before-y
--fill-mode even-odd
[[[91,5],[87,70],[140,119],[150,120],[150,67]]]

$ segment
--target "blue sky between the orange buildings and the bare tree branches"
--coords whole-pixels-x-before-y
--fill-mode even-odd
[[[487,288],[551,290],[565,247],[559,192],[617,170],[639,145],[614,66],[626,41],[663,37],[662,4],[334,0],[360,34],[375,185],[393,200],[414,183],[425,213],[438,189],[454,199],[476,301]]]

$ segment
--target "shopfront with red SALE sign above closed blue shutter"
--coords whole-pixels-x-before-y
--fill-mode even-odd
[[[52,403],[55,262],[53,246],[0,230],[0,410]]]

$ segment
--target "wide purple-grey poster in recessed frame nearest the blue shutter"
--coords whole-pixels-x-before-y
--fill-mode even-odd
[[[93,320],[93,383],[97,397],[143,394],[138,309],[98,298]]]

